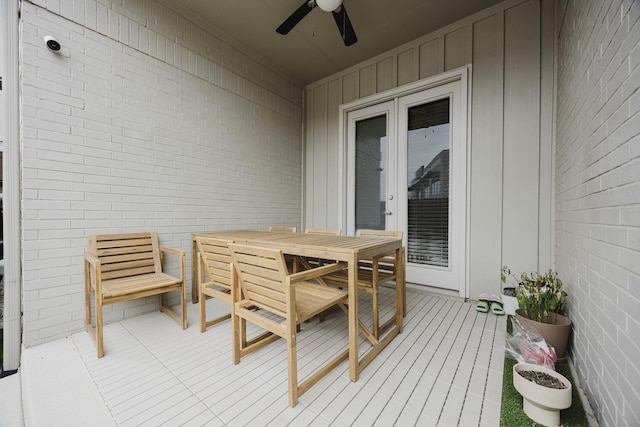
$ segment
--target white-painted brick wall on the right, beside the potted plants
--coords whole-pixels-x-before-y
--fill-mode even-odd
[[[571,356],[601,425],[638,426],[640,2],[559,4],[556,267]]]

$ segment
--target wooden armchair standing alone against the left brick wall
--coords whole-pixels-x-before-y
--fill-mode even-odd
[[[180,278],[162,272],[161,252],[180,257]],[[160,295],[160,311],[187,328],[185,253],[158,244],[155,232],[89,236],[84,254],[86,328],[104,356],[102,307],[117,302]],[[164,294],[180,291],[182,314],[164,305]],[[91,323],[91,293],[95,298],[96,326]]]

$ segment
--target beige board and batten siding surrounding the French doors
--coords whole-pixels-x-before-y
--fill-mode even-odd
[[[508,0],[308,85],[305,225],[343,223],[341,104],[470,66],[467,296],[497,293],[502,265],[549,268],[552,22],[552,1]]]

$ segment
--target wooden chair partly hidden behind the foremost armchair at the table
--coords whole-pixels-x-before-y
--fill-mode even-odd
[[[231,318],[231,287],[233,277],[231,251],[227,246],[232,240],[196,237],[198,244],[198,295],[200,307],[200,332],[209,326]],[[229,311],[207,320],[207,297],[217,298],[229,304]]]

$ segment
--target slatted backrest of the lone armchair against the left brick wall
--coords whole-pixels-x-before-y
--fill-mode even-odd
[[[156,232],[92,235],[89,252],[100,260],[102,280],[162,272]]]

